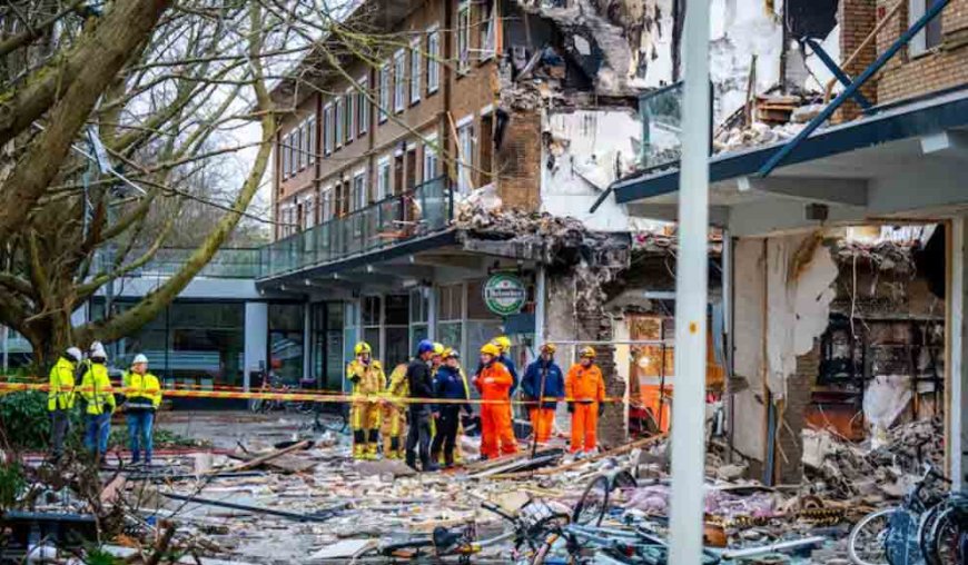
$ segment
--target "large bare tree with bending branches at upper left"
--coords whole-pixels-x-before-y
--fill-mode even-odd
[[[71,343],[124,337],[169,304],[246,214],[276,131],[265,69],[284,22],[257,2],[102,6],[0,8],[0,324],[30,340],[38,364]],[[132,308],[73,327],[78,307],[166,242],[182,204],[199,199],[191,182],[243,149],[224,133],[253,120],[248,170],[227,205],[209,202],[220,216],[181,269]],[[99,169],[93,139],[119,172]],[[159,215],[168,220],[147,234]]]

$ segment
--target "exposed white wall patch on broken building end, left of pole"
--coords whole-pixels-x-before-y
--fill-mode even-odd
[[[638,162],[635,146],[642,138],[642,122],[635,110],[554,112],[547,115],[544,129],[552,142],[550,148],[542,147],[541,211],[577,218],[596,231],[635,231],[661,225],[630,218],[625,206],[612,196],[589,214],[609,185]],[[551,169],[549,158],[554,160]]]

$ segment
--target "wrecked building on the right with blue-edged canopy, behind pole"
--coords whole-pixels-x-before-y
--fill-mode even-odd
[[[640,36],[643,161],[603,200],[674,220],[681,28],[679,2],[662,3],[669,43]],[[610,6],[618,18],[628,4]],[[968,2],[711,7],[710,224],[723,234],[731,452],[753,478],[797,482],[816,460],[804,430],[877,445],[920,419],[935,432],[915,443],[945,452],[958,488]]]

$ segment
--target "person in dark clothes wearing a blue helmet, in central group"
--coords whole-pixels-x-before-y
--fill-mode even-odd
[[[431,376],[431,357],[434,355],[434,343],[424,339],[417,344],[417,356],[407,366],[407,387],[411,398],[423,400],[411,402],[407,409],[409,430],[407,432],[406,463],[416,469],[416,455],[419,448],[421,469],[437,470],[431,462],[431,414],[436,406],[427,399],[434,398],[434,381]]]

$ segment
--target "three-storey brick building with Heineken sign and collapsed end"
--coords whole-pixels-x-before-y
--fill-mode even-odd
[[[590,211],[639,168],[642,121],[624,31],[579,4],[364,2],[345,26],[371,30],[372,51],[334,66],[323,53],[349,50],[323,38],[279,82],[278,225],[257,286],[302,308],[306,337],[270,329],[268,366],[339,388],[357,339],[393,365],[423,338],[473,358],[500,333],[518,363],[546,339],[562,363],[581,343],[613,363],[612,300],[651,304],[624,275],[671,251],[652,245],[660,222]]]

